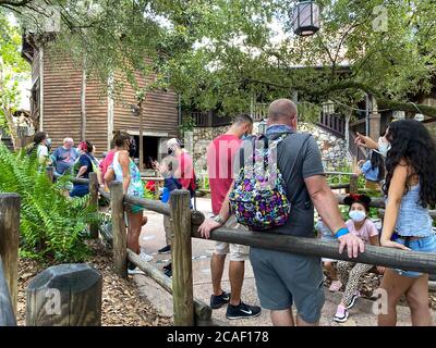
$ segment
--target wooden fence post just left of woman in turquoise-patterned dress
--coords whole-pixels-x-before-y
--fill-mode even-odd
[[[116,273],[128,277],[128,235],[124,223],[124,195],[122,183],[110,184],[110,207],[112,210],[112,234],[113,234],[113,263]]]

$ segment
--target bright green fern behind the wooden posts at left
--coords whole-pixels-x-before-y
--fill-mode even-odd
[[[22,257],[58,262],[81,262],[88,256],[86,227],[101,220],[89,197],[70,199],[62,194],[68,177],[50,183],[35,156],[11,152],[0,144],[0,192],[21,195]]]

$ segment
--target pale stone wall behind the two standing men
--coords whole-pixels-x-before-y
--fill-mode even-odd
[[[254,124],[254,134],[257,134],[258,123]],[[193,152],[195,172],[198,176],[207,172],[206,152],[210,141],[220,134],[227,132],[229,127],[198,127],[193,130]],[[324,167],[326,170],[337,170],[343,164],[351,163],[351,157],[346,148],[346,140],[339,138],[328,130],[306,123],[299,123],[299,132],[310,133],[318,142],[322,152]]]

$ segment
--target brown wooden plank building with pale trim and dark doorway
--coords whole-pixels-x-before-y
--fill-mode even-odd
[[[38,45],[28,35],[23,37],[22,54],[32,64],[31,116],[39,130],[49,134],[53,147],[60,146],[65,137],[72,137],[76,144],[87,139],[96,146],[99,156],[109,149],[112,132],[119,129],[134,135],[140,145],[137,101],[130,84],[121,82],[124,88],[112,98],[68,53],[59,53],[47,44]],[[140,79],[140,85],[152,78]],[[172,91],[148,92],[142,110],[142,156],[148,167],[149,158],[160,159],[160,145],[179,136],[178,96]]]

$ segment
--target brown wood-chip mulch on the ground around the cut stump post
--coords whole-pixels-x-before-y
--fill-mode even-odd
[[[100,240],[89,241],[93,256],[88,264],[102,273],[101,325],[104,326],[169,326],[172,319],[160,315],[140,291],[132,277],[120,278],[112,268],[112,252]],[[25,325],[26,288],[38,273],[49,265],[36,261],[19,261],[17,324]]]

